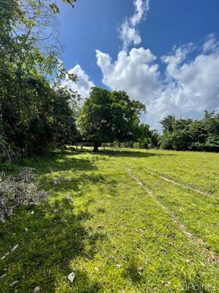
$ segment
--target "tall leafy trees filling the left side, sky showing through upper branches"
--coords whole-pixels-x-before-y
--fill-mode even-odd
[[[0,159],[44,152],[76,136],[78,96],[59,86],[67,72],[59,63],[55,7],[48,0],[0,0]]]

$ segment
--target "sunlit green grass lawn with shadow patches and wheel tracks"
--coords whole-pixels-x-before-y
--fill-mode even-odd
[[[219,292],[219,154],[67,150],[3,168],[23,166],[50,196],[0,223],[0,292]]]

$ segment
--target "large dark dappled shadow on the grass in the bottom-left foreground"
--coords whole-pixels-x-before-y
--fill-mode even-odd
[[[64,287],[59,292],[98,292],[100,284],[92,283],[84,270],[71,264],[77,258],[92,259],[96,242],[105,239],[103,232],[84,227],[91,216],[88,210],[76,214],[67,199],[19,208],[16,216],[1,224],[0,256],[19,246],[1,260],[0,276],[6,276],[0,280],[0,292],[32,292],[36,286],[49,293],[60,286]],[[72,270],[76,274],[73,286],[67,280]],[[18,283],[10,287],[13,281]]]

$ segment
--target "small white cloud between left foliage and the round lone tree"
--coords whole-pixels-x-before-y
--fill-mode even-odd
[[[72,90],[79,92],[82,99],[88,97],[91,88],[94,86],[94,83],[90,80],[90,78],[81,68],[81,66],[77,64],[76,66],[74,66],[74,68],[68,70],[68,73],[76,74],[76,76],[78,77],[78,81],[74,83],[69,79],[65,79],[65,81],[63,81],[63,85],[67,85],[67,87],[72,88]]]

